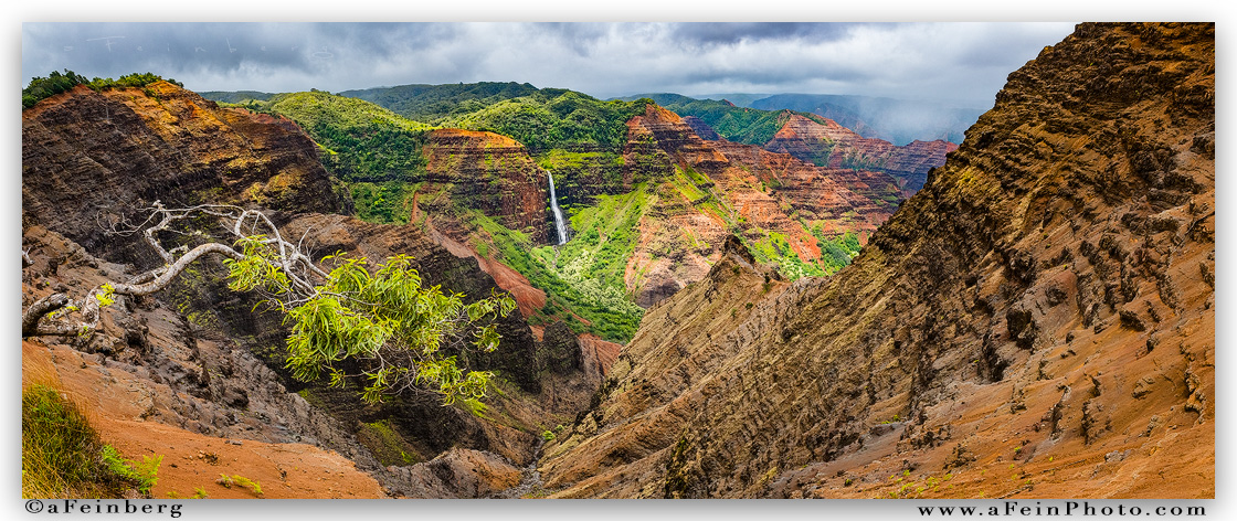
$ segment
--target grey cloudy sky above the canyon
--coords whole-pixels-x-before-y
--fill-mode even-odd
[[[607,98],[820,93],[988,108],[1070,22],[22,24],[22,83],[153,72],[193,90],[520,82]]]

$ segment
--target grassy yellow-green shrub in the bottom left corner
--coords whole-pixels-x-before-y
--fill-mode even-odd
[[[162,459],[125,460],[53,387],[21,394],[22,497],[121,497],[134,489],[148,496]]]

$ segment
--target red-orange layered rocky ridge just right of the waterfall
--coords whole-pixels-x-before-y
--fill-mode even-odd
[[[820,236],[849,231],[866,240],[896,208],[893,177],[818,167],[752,145],[705,141],[689,123],[656,105],[628,121],[625,179],[649,182],[656,194],[640,220],[626,272],[628,291],[641,306],[703,278],[732,230],[763,246],[773,257],[762,261],[779,264],[785,273],[823,275],[816,266]]]

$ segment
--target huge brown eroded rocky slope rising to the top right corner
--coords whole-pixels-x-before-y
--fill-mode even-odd
[[[546,447],[557,496],[1213,497],[1215,28],[1084,24],[850,267],[730,240]]]

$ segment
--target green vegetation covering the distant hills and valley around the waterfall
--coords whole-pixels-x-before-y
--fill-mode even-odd
[[[407,224],[413,200],[434,200],[435,212],[471,226],[470,245],[476,251],[492,254],[547,291],[547,306],[529,317],[534,324],[563,319],[575,332],[591,332],[614,342],[626,342],[635,334],[643,311],[627,293],[623,275],[638,239],[640,219],[653,197],[662,205],[669,204],[672,212],[694,207],[719,217],[736,231],[750,228],[725,198],[713,193],[708,177],[674,167],[664,156],[621,155],[626,121],[653,103],[648,98],[601,101],[567,89],[517,83],[402,85],[341,94],[276,94],[266,101],[249,97],[244,106],[287,116],[306,129],[322,147],[323,163],[343,182],[361,219]],[[727,139],[743,142],[767,141],[784,118],[781,111],[722,101],[666,98],[658,100],[667,108],[700,116]],[[574,230],[570,241],[539,246],[528,239],[527,230],[507,229],[469,202],[432,193],[418,196],[418,191],[427,189],[422,149],[430,124],[494,131],[526,145],[537,165],[554,176]],[[635,165],[626,165],[628,161]],[[637,172],[630,179],[636,188],[625,186],[627,170]],[[760,261],[776,265],[789,278],[833,273],[857,251],[857,240],[851,248],[850,240],[818,233],[826,255],[820,261],[805,261],[787,236],[757,231],[761,238],[743,241]],[[677,248],[703,246],[688,231],[658,244],[654,256],[669,255]]]

